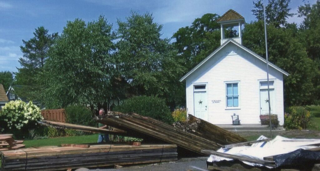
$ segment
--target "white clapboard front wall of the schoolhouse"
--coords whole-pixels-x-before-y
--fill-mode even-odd
[[[269,79],[275,86],[275,109],[280,125],[284,123],[283,73],[269,67]],[[213,124],[231,124],[231,115],[239,115],[241,124],[260,124],[260,81],[267,80],[266,63],[247,51],[228,43],[200,68],[186,78],[188,114],[194,115],[193,86],[207,86],[208,121]],[[239,81],[239,108],[226,108],[226,81]],[[212,100],[221,100],[212,103]]]

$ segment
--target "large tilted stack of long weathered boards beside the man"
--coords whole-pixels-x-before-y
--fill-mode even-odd
[[[199,154],[204,154],[201,150],[208,148],[217,150],[222,146],[206,137],[200,137],[153,118],[134,113],[109,112],[107,116],[97,117],[96,119],[100,123],[126,130],[128,134],[132,134],[131,136],[145,134]]]

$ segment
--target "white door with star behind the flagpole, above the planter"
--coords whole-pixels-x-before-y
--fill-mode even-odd
[[[274,109],[274,89],[270,89],[270,113],[273,114]],[[268,103],[268,89],[260,89],[260,114],[269,114],[269,103]]]

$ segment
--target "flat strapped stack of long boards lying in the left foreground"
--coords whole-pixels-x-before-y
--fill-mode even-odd
[[[90,145],[2,152],[4,170],[66,170],[177,160],[176,145]],[[1,169],[0,169],[1,170]]]

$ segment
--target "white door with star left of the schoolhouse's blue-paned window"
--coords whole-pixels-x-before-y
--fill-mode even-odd
[[[195,116],[207,121],[207,92],[194,92]]]

